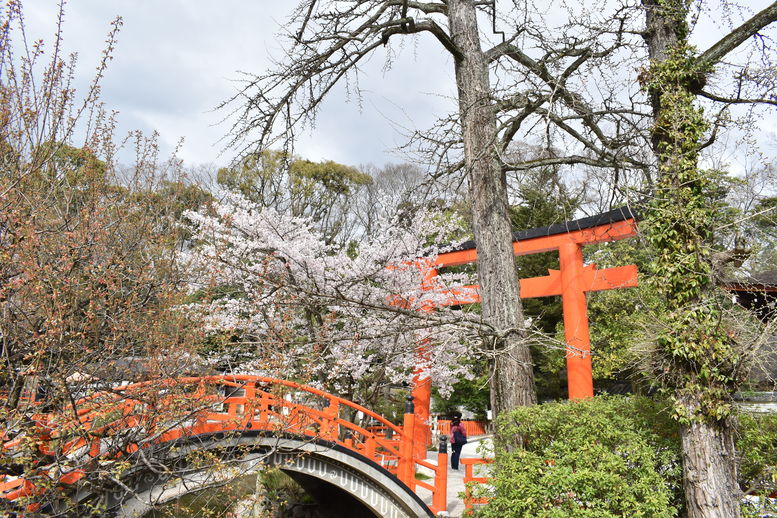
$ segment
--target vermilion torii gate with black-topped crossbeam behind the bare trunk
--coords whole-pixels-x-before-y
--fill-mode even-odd
[[[564,312],[564,337],[568,391],[570,399],[592,397],[593,375],[591,371],[591,342],[588,334],[588,309],[586,292],[627,288],[637,285],[637,267],[633,264],[616,268],[597,269],[595,264],[583,264],[583,246],[632,237],[637,232],[634,214],[626,207],[604,214],[567,221],[549,227],[522,230],[513,233],[515,255],[530,255],[558,250],[559,270],[549,270],[544,277],[520,280],[521,298],[561,295]],[[456,250],[440,254],[430,265],[426,287],[435,288],[434,278],[438,270],[477,261],[477,249],[468,241]],[[477,286],[465,286],[447,290],[450,294],[446,305],[463,305],[480,302]],[[423,345],[419,347],[423,349]],[[423,351],[419,351],[423,357]],[[416,403],[416,445],[428,443],[429,404],[431,379],[416,372],[413,383]]]

